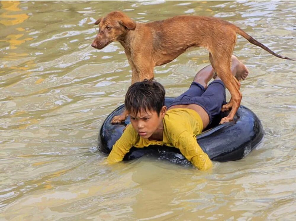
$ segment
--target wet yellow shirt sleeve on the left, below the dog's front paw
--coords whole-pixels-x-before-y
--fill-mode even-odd
[[[113,145],[112,150],[107,158],[107,162],[112,164],[123,160],[131,147],[136,143],[137,134],[130,124],[126,127],[121,137]]]

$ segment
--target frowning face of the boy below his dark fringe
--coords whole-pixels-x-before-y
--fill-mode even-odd
[[[141,112],[138,112],[136,115],[131,112],[131,125],[142,138],[148,139],[160,126],[162,126],[162,120],[165,113],[165,106],[162,107],[159,116],[156,111],[147,110],[146,112],[143,109],[141,109]]]

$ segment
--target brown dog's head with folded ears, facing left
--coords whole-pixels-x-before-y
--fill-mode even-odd
[[[96,49],[102,49],[112,41],[118,40],[129,30],[135,30],[136,22],[122,12],[110,12],[104,18],[99,18],[95,23],[99,25],[99,33],[91,44]]]

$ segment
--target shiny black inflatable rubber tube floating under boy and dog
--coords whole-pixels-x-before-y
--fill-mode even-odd
[[[165,97],[165,105],[168,107],[173,101],[172,97]],[[98,149],[106,154],[112,150],[112,146],[120,138],[123,129],[130,123],[128,117],[122,124],[111,124],[115,115],[123,112],[124,105],[115,109],[104,121],[99,135]],[[258,117],[248,108],[240,106],[234,120],[218,125],[221,118],[228,113],[217,117],[206,130],[197,135],[197,142],[210,159],[219,162],[242,159],[258,145],[264,135],[262,124]],[[178,123],[178,122],[176,122]],[[214,127],[213,127],[214,126]],[[207,130],[208,129],[208,130]],[[190,164],[180,153],[179,149],[168,146],[150,145],[144,148],[132,147],[123,160],[131,160],[142,157],[144,154],[155,155],[161,159],[178,164]]]

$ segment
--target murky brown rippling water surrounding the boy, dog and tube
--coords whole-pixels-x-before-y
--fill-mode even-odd
[[[295,220],[295,62],[242,37],[242,104],[266,132],[254,151],[212,173],[151,157],[104,164],[98,131],[131,83],[119,43],[90,46],[95,20],[114,10],[137,22],[219,17],[295,58],[295,1],[1,1],[0,219]],[[208,63],[194,49],[155,78],[177,96]]]

